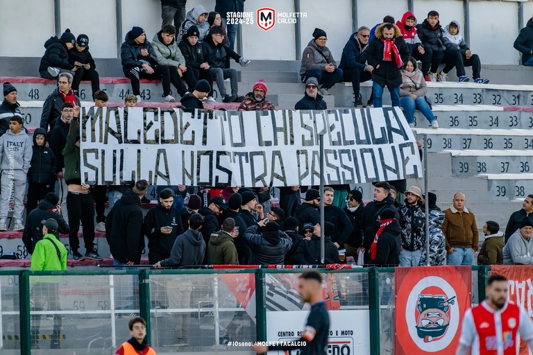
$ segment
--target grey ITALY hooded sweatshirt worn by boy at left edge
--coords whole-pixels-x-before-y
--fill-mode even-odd
[[[26,135],[24,129],[16,135],[8,130],[5,135],[0,137],[1,170],[15,171],[15,180],[26,180],[32,154],[31,139]]]

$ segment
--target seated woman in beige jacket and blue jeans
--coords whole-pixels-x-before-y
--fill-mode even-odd
[[[416,59],[409,58],[401,70],[402,85],[400,85],[400,105],[407,123],[414,127],[414,110],[420,110],[430,122],[431,128],[439,128],[437,118],[435,118],[430,105],[425,101],[425,94],[428,93],[428,85],[425,84],[422,71],[418,70]]]

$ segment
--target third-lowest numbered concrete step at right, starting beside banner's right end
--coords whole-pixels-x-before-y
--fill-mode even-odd
[[[530,150],[533,138],[530,130],[520,129],[462,129],[462,128],[414,128],[418,139],[428,135],[428,152],[441,150]]]

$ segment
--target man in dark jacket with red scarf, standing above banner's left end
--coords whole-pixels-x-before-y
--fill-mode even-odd
[[[80,98],[72,90],[72,76],[69,73],[60,73],[58,78],[58,88],[44,100],[42,104],[42,114],[40,127],[48,131],[61,117],[64,103],[71,103],[72,106],[80,106]]]

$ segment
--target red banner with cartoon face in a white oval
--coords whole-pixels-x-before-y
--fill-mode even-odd
[[[455,354],[471,305],[468,266],[396,268],[396,355]]]

